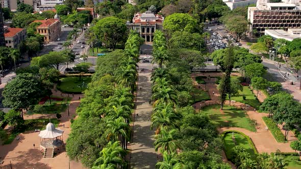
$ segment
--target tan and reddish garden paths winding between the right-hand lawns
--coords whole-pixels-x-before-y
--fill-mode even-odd
[[[211,74],[211,77],[220,75],[220,73],[210,73],[210,74]],[[195,74],[192,74],[192,77],[200,76],[200,75],[205,75],[205,74],[204,73],[195,73]],[[208,75],[208,73],[206,75]],[[208,81],[208,80],[206,80],[206,81]],[[214,81],[207,82],[206,90],[208,90],[211,100],[206,101],[206,102],[195,103],[196,109],[199,109],[200,106],[203,107],[205,105],[219,103],[218,97],[220,95],[219,95],[219,92],[216,87],[217,87],[217,85],[214,83]],[[213,92],[214,92],[214,94],[213,94]],[[254,91],[254,92],[256,94],[256,91]],[[264,94],[258,95],[258,97],[259,97],[260,101],[263,101],[265,99]],[[229,101],[226,101],[225,105],[229,105]],[[232,103],[232,105],[240,107],[241,105],[243,105],[243,103],[236,102],[234,104]],[[249,107],[249,108],[247,108],[247,115],[250,119],[254,119],[257,121],[257,132],[252,132],[252,131],[242,129],[242,128],[237,128],[237,127],[222,127],[222,128],[219,128],[218,131],[223,132],[226,130],[238,130],[238,131],[245,133],[253,140],[259,153],[262,153],[262,152],[271,153],[271,152],[277,151],[278,149],[281,152],[295,152],[294,150],[292,150],[290,148],[290,142],[296,139],[294,137],[294,134],[291,131],[289,132],[289,137],[288,137],[289,142],[288,143],[278,143],[275,140],[275,138],[273,137],[273,135],[271,134],[271,132],[269,130],[265,129],[266,125],[265,125],[264,121],[262,120],[262,117],[267,116],[267,114],[260,113],[257,111],[255,112],[253,107]],[[285,132],[282,129],[281,129],[281,131],[283,133]]]

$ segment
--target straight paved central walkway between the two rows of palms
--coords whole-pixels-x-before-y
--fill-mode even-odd
[[[157,152],[154,149],[155,129],[150,130],[150,116],[153,107],[149,104],[152,97],[152,82],[150,82],[152,68],[139,66],[137,102],[134,118],[134,134],[131,146],[131,168],[155,168]],[[141,90],[140,90],[141,88]]]

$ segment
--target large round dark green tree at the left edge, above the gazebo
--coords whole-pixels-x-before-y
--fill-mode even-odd
[[[41,95],[41,82],[33,74],[23,73],[16,76],[4,88],[3,104],[14,110],[29,109]],[[21,113],[23,117],[23,113]]]

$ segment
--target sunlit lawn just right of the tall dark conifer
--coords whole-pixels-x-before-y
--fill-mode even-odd
[[[242,100],[242,96],[245,96],[245,101]],[[249,104],[250,106],[256,108],[257,110],[259,110],[259,106],[261,104],[247,86],[244,86],[243,91],[239,91],[239,94],[237,96],[231,97],[231,100]]]

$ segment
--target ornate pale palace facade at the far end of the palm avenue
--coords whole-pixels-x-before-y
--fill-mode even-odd
[[[142,14],[135,14],[133,23],[127,21],[127,27],[137,31],[145,39],[145,42],[153,42],[154,33],[156,30],[162,30],[163,21],[164,17],[162,15],[146,11]]]

